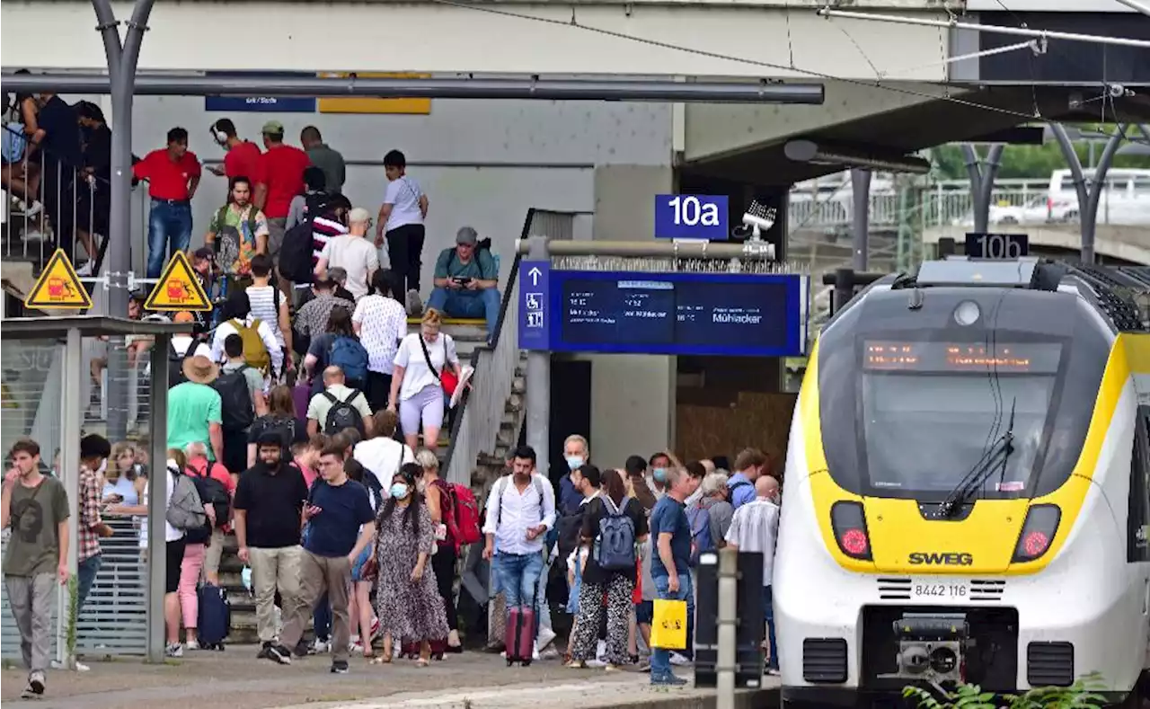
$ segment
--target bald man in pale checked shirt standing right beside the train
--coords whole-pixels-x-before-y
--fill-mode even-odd
[[[754,500],[735,510],[727,531],[727,546],[736,551],[762,555],[762,615],[767,620],[767,672],[779,674],[779,651],[775,649],[775,612],[770,579],[775,566],[775,538],[779,534],[779,481],[759,475],[754,481]]]

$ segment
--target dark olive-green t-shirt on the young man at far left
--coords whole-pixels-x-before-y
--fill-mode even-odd
[[[44,478],[34,488],[16,481],[12,488],[12,538],[3,572],[34,577],[56,572],[60,564],[60,523],[70,514],[68,493],[56,478]]]

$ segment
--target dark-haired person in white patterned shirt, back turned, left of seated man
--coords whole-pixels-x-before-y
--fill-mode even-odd
[[[379,269],[371,274],[371,291],[355,303],[352,327],[367,350],[367,403],[371,411],[383,411],[391,392],[396,351],[407,335],[407,311],[397,299],[399,290],[392,272]]]

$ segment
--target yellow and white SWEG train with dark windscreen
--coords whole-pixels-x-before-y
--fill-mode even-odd
[[[787,451],[784,707],[1092,672],[1141,706],[1150,331],[1130,292],[1147,290],[1136,269],[960,258],[835,314]]]

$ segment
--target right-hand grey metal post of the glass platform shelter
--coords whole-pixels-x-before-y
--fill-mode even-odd
[[[168,541],[168,343],[171,335],[156,335],[152,346],[152,416],[148,435],[152,441],[152,475],[148,477],[147,498],[147,661],[163,662],[166,627],[163,618],[164,574],[167,573]]]

